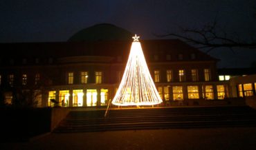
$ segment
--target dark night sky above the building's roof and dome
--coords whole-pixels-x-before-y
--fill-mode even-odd
[[[159,39],[152,33],[179,33],[217,20],[229,34],[256,41],[255,0],[1,0],[0,43],[66,41],[97,23],[112,23]],[[219,67],[250,67],[256,50],[212,50]],[[241,63],[243,61],[243,63]]]

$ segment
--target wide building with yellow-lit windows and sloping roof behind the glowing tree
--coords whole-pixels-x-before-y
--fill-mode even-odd
[[[108,105],[125,70],[129,39],[90,40],[86,34],[84,41],[0,44],[6,53],[0,58],[5,103],[23,98],[37,107],[53,107],[55,101],[62,107]],[[178,39],[140,43],[161,105],[229,97],[228,82],[219,81],[216,58]]]

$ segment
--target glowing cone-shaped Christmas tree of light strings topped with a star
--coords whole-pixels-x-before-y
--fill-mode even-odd
[[[112,100],[113,105],[156,105],[162,103],[162,99],[156,90],[150,76],[147,63],[140,42],[135,34],[134,42],[122,76],[122,81]]]

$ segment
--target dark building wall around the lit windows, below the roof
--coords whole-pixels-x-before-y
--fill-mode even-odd
[[[99,57],[97,57],[99,58]],[[65,58],[66,62],[63,60],[57,61],[59,63],[51,65],[30,65],[30,66],[16,66],[16,67],[7,67],[1,68],[1,74],[3,76],[1,85],[5,83],[8,85],[8,74],[15,74],[15,86],[21,85],[22,83],[22,74],[28,74],[28,83],[23,88],[26,89],[35,84],[35,74],[40,74],[40,80],[42,81],[42,87],[44,91],[42,92],[42,107],[48,106],[48,92],[55,91],[55,98],[58,100],[59,92],[62,90],[69,91],[69,102],[68,106],[73,106],[73,90],[82,89],[84,93],[84,102],[86,102],[86,91],[87,89],[96,89],[98,93],[97,105],[100,105],[100,90],[108,89],[109,97],[108,99],[113,99],[113,96],[116,93],[118,88],[118,73],[124,72],[125,63],[113,63],[111,61],[98,62],[97,58],[93,61],[84,61],[81,62],[77,59],[71,58],[68,61],[68,58]],[[111,58],[108,58],[111,60]],[[169,87],[170,101],[173,100],[172,87],[181,86],[183,87],[183,100],[188,100],[188,89],[190,85],[198,86],[199,98],[204,98],[203,96],[203,86],[212,85],[214,87],[214,98],[217,99],[217,89],[216,86],[219,84],[217,82],[217,73],[216,66],[214,61],[179,61],[179,62],[152,62],[148,64],[149,71],[152,73],[152,78],[154,78],[154,70],[160,71],[160,81],[155,83],[156,87],[162,88],[162,95],[165,94],[164,88]],[[171,69],[174,80],[170,83],[167,83],[166,79],[166,70]],[[179,69],[185,70],[185,81],[179,82]],[[192,81],[191,78],[191,69],[197,69],[199,75],[199,81]],[[204,80],[203,69],[210,69],[210,81]],[[82,84],[80,81],[80,72],[86,71],[89,73],[88,83]],[[95,72],[102,72],[102,83],[95,84]],[[73,84],[68,84],[68,72],[73,72]],[[226,86],[226,84],[224,84]],[[28,88],[29,89],[29,88]],[[226,95],[227,96],[227,95]],[[165,97],[163,96],[165,101]],[[86,106],[84,104],[83,106]]]

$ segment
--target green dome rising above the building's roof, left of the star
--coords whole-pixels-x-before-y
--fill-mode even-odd
[[[71,36],[68,41],[109,41],[109,40],[131,40],[133,34],[123,28],[109,23],[93,25],[80,30]]]

